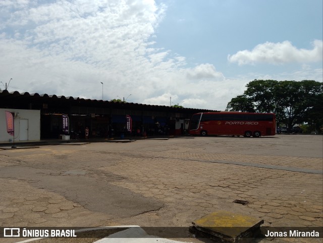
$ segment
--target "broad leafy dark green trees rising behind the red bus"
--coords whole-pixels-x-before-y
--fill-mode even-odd
[[[231,99],[226,111],[276,113],[277,123],[291,129],[308,123],[323,125],[323,83],[313,80],[253,80],[242,95]]]

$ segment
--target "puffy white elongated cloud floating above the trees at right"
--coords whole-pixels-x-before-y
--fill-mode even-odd
[[[312,50],[298,49],[290,41],[278,43],[265,42],[258,44],[252,51],[239,51],[234,55],[229,55],[228,60],[231,63],[239,65],[256,63],[311,63],[322,60],[322,40],[314,40]]]

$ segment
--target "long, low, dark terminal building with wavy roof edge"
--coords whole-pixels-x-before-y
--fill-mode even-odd
[[[7,132],[6,115],[14,117],[15,135]],[[0,91],[0,142],[13,139],[70,139],[85,137],[184,135],[194,113],[211,110],[144,105],[57,96],[55,94]],[[126,127],[126,116],[132,120]],[[68,118],[68,129],[63,117]]]

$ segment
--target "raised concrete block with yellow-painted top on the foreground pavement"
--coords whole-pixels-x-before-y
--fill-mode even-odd
[[[197,230],[203,233],[227,242],[238,242],[241,238],[258,233],[263,220],[228,211],[218,211],[192,223]]]

